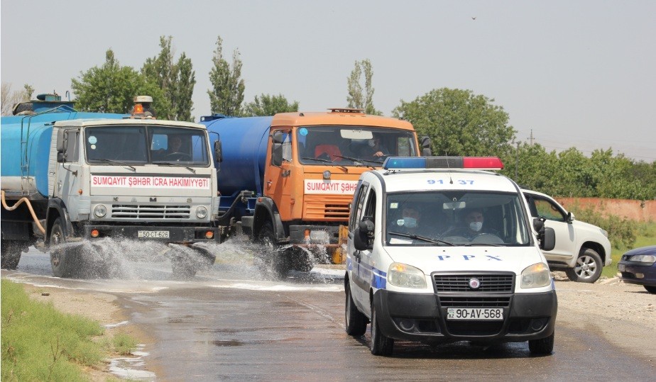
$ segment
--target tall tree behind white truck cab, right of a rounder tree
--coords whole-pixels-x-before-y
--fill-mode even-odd
[[[143,74],[149,81],[155,82],[162,89],[170,109],[164,114],[157,111],[158,118],[170,120],[192,120],[193,109],[192,94],[196,84],[195,72],[192,62],[183,52],[177,62],[173,62],[173,38],[160,37],[159,55],[148,58],[141,67]]]

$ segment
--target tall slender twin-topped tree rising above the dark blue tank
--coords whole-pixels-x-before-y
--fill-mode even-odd
[[[232,69],[223,58],[223,40],[217,38],[217,48],[212,57],[212,70],[209,72],[209,81],[212,89],[207,90],[212,113],[221,113],[226,116],[239,116],[241,103],[244,102],[244,79],[241,79],[241,59],[239,50],[232,55]]]

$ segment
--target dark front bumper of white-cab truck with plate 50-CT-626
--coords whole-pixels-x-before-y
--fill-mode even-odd
[[[136,225],[86,225],[83,235],[88,239],[121,237],[133,240],[155,240],[175,244],[217,242],[222,240],[223,227],[179,227]]]

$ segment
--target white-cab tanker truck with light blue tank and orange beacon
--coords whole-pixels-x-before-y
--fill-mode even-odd
[[[133,116],[80,113],[49,95],[2,117],[3,268],[34,245],[50,250],[55,276],[102,276],[113,265],[111,253],[97,256],[107,237],[175,249],[164,257],[177,276],[214,263],[198,245],[221,237],[207,130],[154,119],[152,99],[136,101]]]

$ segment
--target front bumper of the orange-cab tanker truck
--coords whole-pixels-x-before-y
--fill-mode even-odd
[[[290,245],[307,249],[325,248],[333,264],[346,262],[346,225],[290,225]]]

